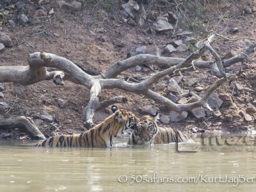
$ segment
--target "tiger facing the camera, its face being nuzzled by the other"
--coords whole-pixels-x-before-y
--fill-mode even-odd
[[[143,116],[132,126],[133,132],[127,145],[150,145],[166,143],[194,143],[186,134],[178,129],[157,126],[158,113],[156,115]]]

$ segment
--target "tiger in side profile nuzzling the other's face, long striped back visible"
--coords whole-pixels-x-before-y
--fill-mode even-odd
[[[124,134],[135,123],[136,116],[131,111],[112,106],[112,115],[92,129],[81,134],[52,136],[36,144],[36,147],[101,147],[113,146],[113,138]]]

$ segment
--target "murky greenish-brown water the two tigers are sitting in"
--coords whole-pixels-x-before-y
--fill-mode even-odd
[[[0,191],[256,189],[255,150],[243,146],[177,152],[175,144],[127,147],[125,140],[107,149],[33,145],[35,141],[0,140]],[[178,149],[191,148],[195,146],[181,144]]]

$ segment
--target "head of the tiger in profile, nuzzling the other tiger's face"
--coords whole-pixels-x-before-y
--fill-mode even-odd
[[[111,110],[115,113],[115,122],[124,125],[123,129],[118,130],[118,134],[124,134],[124,131],[127,131],[127,129],[133,129],[132,127],[137,119],[134,113],[124,109],[118,109],[115,105],[111,107]]]

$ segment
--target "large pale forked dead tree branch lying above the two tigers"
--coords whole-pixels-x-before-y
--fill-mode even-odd
[[[77,84],[83,84],[86,88],[90,89],[90,100],[88,106],[83,112],[83,122],[86,127],[93,126],[93,115],[95,111],[104,109],[110,104],[115,102],[125,102],[125,97],[113,97],[112,99],[104,102],[99,102],[99,95],[104,89],[118,88],[125,92],[132,92],[136,94],[143,94],[149,99],[155,100],[157,103],[166,106],[170,110],[177,112],[190,111],[194,108],[203,106],[204,108],[211,108],[207,104],[207,100],[216,88],[227,81],[234,81],[238,78],[244,77],[242,72],[236,75],[229,75],[225,73],[225,68],[243,61],[248,57],[248,54],[253,51],[254,45],[250,45],[244,52],[230,58],[227,61],[222,61],[220,56],[212,49],[211,44],[216,40],[216,35],[211,35],[207,41],[198,49],[193,52],[188,58],[165,58],[162,56],[154,56],[150,54],[139,54],[132,56],[123,61],[118,61],[112,65],[106,72],[97,76],[90,75],[81,68],[61,56],[47,52],[34,52],[29,55],[28,67],[0,67],[0,82],[13,82],[24,85],[37,83],[43,80],[53,79],[55,84],[63,84],[63,80],[72,81]],[[211,52],[214,56],[214,61],[202,61],[200,57],[205,51]],[[152,77],[145,79],[139,83],[125,81],[124,78],[116,79],[118,75],[128,68],[136,65],[154,64],[166,66],[165,70],[157,72]],[[161,78],[166,75],[173,74],[180,70],[188,70],[189,67],[193,68],[206,68],[220,79],[210,86],[200,100],[189,104],[175,104],[163,95],[156,93],[150,88],[152,84],[157,83]],[[51,68],[51,70],[47,70]],[[57,70],[53,70],[57,69]]]

